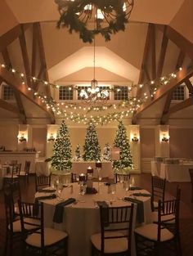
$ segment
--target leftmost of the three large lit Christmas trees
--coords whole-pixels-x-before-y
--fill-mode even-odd
[[[71,163],[71,144],[68,128],[63,120],[57,133],[56,141],[53,146],[54,155],[52,156],[52,167],[60,171],[69,171]]]

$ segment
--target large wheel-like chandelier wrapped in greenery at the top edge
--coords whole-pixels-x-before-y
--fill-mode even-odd
[[[57,28],[67,27],[69,32],[79,33],[84,43],[92,43],[96,34],[105,41],[110,35],[125,29],[131,15],[134,0],[55,0],[60,12]],[[95,29],[89,24],[96,22]]]

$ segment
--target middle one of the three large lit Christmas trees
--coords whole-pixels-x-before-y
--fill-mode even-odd
[[[83,146],[84,161],[97,161],[101,159],[101,148],[98,143],[96,127],[90,123],[87,129],[85,142]]]

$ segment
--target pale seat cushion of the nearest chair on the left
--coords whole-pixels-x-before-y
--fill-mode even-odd
[[[44,228],[44,245],[54,245],[57,242],[65,239],[68,234],[64,231],[59,231],[53,228]],[[31,234],[25,240],[27,245],[35,246],[40,248],[41,247],[41,235],[38,233]]]

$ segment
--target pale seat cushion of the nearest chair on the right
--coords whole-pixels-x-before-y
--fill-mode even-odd
[[[158,225],[155,223],[152,223],[152,224],[147,224],[147,225],[144,225],[141,227],[137,227],[135,229],[135,233],[137,233],[140,236],[145,237],[146,239],[157,241]],[[171,239],[173,239],[173,233],[168,231],[167,228],[161,229],[160,241],[164,242],[164,241],[171,240]]]

